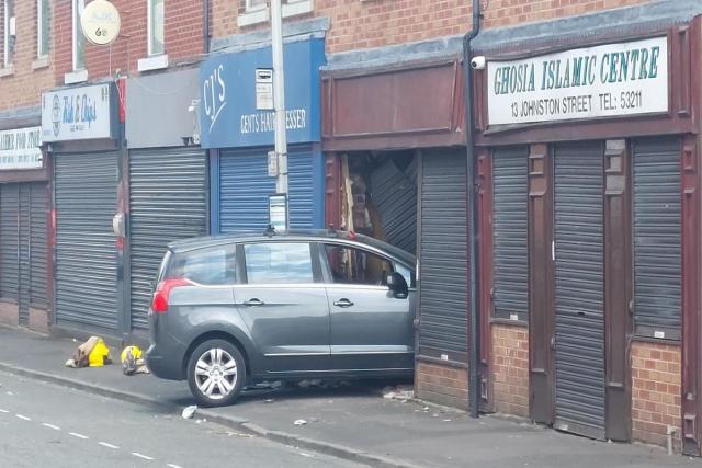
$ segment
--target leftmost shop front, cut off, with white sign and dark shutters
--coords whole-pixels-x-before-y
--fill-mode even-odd
[[[46,332],[48,173],[41,146],[39,126],[0,130],[0,320]]]

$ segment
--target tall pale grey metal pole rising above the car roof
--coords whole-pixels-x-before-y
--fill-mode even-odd
[[[275,109],[275,190],[287,194],[287,135],[285,134],[285,75],[283,71],[283,20],[281,0],[271,0],[271,42],[273,48],[273,104]],[[286,217],[287,218],[287,217]],[[288,222],[286,221],[286,225]],[[287,226],[285,226],[287,228]]]

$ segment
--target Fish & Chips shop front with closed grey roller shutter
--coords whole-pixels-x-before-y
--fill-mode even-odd
[[[122,158],[116,92],[113,83],[101,83],[42,95],[52,178],[53,324],[113,336],[126,330],[113,229]]]

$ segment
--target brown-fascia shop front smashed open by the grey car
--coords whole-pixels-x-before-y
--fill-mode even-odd
[[[407,60],[396,48],[378,52],[373,66],[353,54],[330,58],[325,206],[328,225],[417,254],[416,390],[467,408],[469,184],[460,42],[445,47]]]

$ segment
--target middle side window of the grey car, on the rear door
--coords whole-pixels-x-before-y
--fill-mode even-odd
[[[308,243],[251,243],[244,251],[249,284],[314,282]]]

